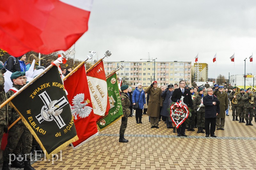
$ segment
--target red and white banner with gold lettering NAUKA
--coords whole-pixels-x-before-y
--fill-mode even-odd
[[[103,116],[108,115],[110,109],[103,61],[87,72],[87,81],[92,99],[92,108],[97,123]]]

